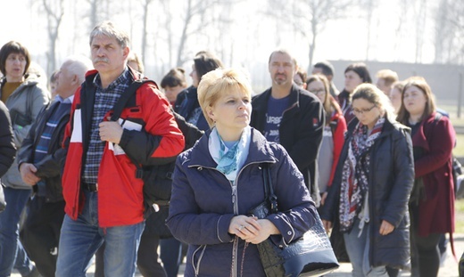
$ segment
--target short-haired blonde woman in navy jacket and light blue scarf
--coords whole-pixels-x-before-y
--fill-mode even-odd
[[[189,244],[185,276],[265,276],[256,244],[270,236],[285,247],[315,223],[314,202],[294,162],[249,126],[251,92],[234,69],[213,70],[198,87],[211,131],[178,157],[167,220]],[[264,164],[285,212],[256,219],[248,215],[264,200]]]

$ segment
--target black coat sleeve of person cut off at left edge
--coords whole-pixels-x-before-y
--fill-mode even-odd
[[[15,154],[10,113],[4,102],[0,101],[0,177],[12,166]]]

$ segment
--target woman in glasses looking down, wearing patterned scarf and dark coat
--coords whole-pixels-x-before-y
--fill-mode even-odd
[[[362,84],[352,94],[336,175],[320,217],[339,223],[352,276],[388,276],[410,260],[408,200],[414,180],[410,129],[394,120],[388,97]]]

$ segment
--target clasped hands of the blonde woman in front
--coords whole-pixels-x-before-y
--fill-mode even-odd
[[[254,216],[234,216],[228,226],[228,232],[253,244],[268,239],[276,230],[278,229],[269,219],[258,219]]]

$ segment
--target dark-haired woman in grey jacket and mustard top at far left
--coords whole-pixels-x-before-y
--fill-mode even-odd
[[[16,149],[29,132],[38,112],[49,102],[49,93],[33,74],[26,74],[30,65],[29,51],[18,42],[10,41],[0,49],[1,100],[10,110]],[[19,242],[19,222],[22,210],[31,193],[31,186],[24,183],[17,159],[2,177],[4,198],[8,205],[0,213],[0,276],[9,276],[16,257],[24,257],[20,273],[27,275],[35,270]],[[19,253],[20,252],[20,253]],[[19,253],[19,254],[18,254]],[[19,263],[17,262],[16,265]]]

